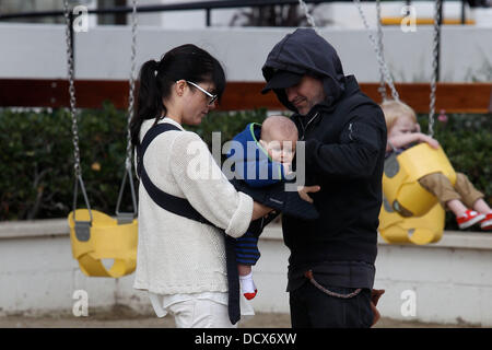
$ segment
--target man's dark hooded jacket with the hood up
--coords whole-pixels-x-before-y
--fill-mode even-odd
[[[353,75],[344,75],[335,48],[313,30],[296,30],[273,47],[262,68],[265,79],[277,70],[320,79],[327,96],[302,116],[284,90],[274,90],[294,112],[305,141],[306,185],[321,187],[312,194],[319,219],[282,219],[291,250],[288,291],[306,281],[308,269],[326,285],[371,289],[386,149],[383,112]]]

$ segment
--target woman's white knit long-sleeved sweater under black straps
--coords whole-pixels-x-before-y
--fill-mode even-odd
[[[145,120],[142,140],[154,120]],[[183,130],[176,121],[164,118]],[[243,235],[251,220],[253,199],[234,189],[207,144],[190,131],[166,131],[147,149],[143,164],[163,191],[186,198],[226,234]],[[198,176],[199,170],[215,176]],[[139,187],[139,243],[133,288],[157,294],[227,291],[223,233],[159,207]]]

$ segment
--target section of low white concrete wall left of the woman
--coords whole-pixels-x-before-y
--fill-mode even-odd
[[[124,303],[149,312],[147,294],[132,283],[133,275],[83,275],[72,258],[66,220],[0,224],[0,315],[71,313],[75,290],[87,292],[90,307]]]

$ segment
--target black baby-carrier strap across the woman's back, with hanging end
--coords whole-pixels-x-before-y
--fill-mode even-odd
[[[171,211],[172,213],[190,220],[198,221],[202,224],[214,226],[209,220],[200,214],[186,198],[179,198],[161,190],[155,186],[143,166],[143,155],[149,144],[161,133],[169,130],[180,131],[169,122],[154,125],[143,137],[142,142],[137,148],[137,174],[143,184],[149,196],[161,208]],[[227,268],[227,284],[229,284],[229,319],[235,325],[241,319],[239,307],[239,277],[236,265],[235,240],[225,234],[224,230],[218,228],[224,233],[225,238],[225,261]]]

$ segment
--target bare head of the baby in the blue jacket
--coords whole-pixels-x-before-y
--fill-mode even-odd
[[[276,162],[292,162],[297,137],[297,127],[285,116],[270,116],[261,125],[260,143]]]

